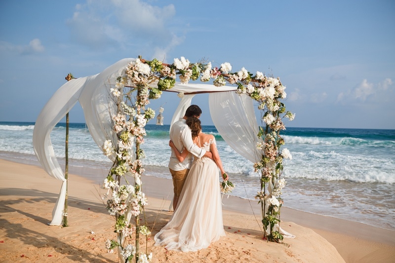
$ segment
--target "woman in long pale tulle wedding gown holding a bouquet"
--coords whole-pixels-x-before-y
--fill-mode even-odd
[[[166,245],[168,250],[184,252],[207,248],[211,242],[225,236],[218,168],[224,180],[229,179],[214,136],[201,132],[200,120],[196,117],[188,118],[186,123],[191,128],[194,143],[211,151],[214,160],[195,157],[173,216],[154,237],[156,246]],[[180,153],[171,141],[169,146],[179,161],[189,154],[185,149]]]

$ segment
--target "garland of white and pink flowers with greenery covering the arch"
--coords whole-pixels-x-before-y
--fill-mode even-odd
[[[103,144],[103,153],[114,159],[114,164],[103,182],[103,188],[108,189],[105,197],[107,210],[115,217],[116,240],[107,240],[106,248],[110,251],[118,249],[118,256],[122,262],[149,262],[152,253],[148,254],[146,245],[145,254],[140,253],[139,235],[146,236],[146,244],[151,231],[147,222],[140,225],[140,214],[144,215],[147,198],[141,190],[141,175],[144,173],[144,144],[146,136],[145,125],[155,117],[155,111],[146,108],[150,99],[160,98],[162,91],[174,86],[178,76],[181,83],[186,84],[191,79],[207,82],[213,80],[215,86],[225,84],[237,85],[237,93],[246,94],[258,101],[258,109],[264,112],[265,128],[260,128],[257,148],[262,150],[262,159],[254,164],[255,171],[261,175],[261,192],[256,198],[263,204],[263,224],[270,225],[269,239],[272,241],[282,239],[273,227],[279,222],[279,207],[282,199],[279,197],[285,182],[279,179],[282,171],[282,158],[289,157],[289,151],[284,149],[279,153],[279,148],[284,144],[279,136],[279,131],[285,129],[282,117],[293,119],[294,114],[285,113],[285,106],[279,102],[286,94],[285,87],[277,78],[267,77],[260,72],[250,74],[242,68],[236,73],[231,73],[229,63],[221,64],[220,68],[213,68],[211,63],[190,63],[188,59],[175,58],[174,63],[164,64],[154,59],[146,61],[138,58],[126,67],[117,82],[110,86],[109,96],[117,106],[116,112],[110,112],[113,121],[113,135]],[[179,94],[180,97],[183,94]],[[285,113],[285,114],[284,114]],[[282,115],[282,117],[281,117]],[[128,178],[134,179],[130,184]],[[267,183],[271,182],[269,193],[266,193]],[[269,186],[269,185],[268,185]],[[224,186],[231,190],[230,186]],[[110,194],[111,191],[111,194]],[[278,197],[276,197],[278,196]],[[265,208],[268,207],[265,214]],[[132,216],[135,225],[131,224]],[[135,246],[131,244],[132,234],[135,234]]]

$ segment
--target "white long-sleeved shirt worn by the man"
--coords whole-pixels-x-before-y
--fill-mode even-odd
[[[182,152],[185,147],[190,153],[198,158],[201,158],[206,153],[206,150],[199,148],[192,141],[191,129],[186,124],[186,120],[184,118],[180,118],[171,126],[170,140],[180,152]],[[179,162],[177,156],[174,154],[173,150],[171,150],[168,167],[174,171],[181,171],[190,168],[193,161],[192,154],[188,154],[187,158],[185,158],[183,162]]]

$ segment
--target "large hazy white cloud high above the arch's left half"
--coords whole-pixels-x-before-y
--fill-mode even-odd
[[[173,4],[159,7],[140,0],[87,0],[76,5],[67,23],[71,37],[88,47],[130,49],[143,42],[142,46],[165,57],[183,40],[169,29],[174,15]]]

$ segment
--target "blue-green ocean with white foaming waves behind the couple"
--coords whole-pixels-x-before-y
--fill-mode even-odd
[[[37,165],[34,125],[0,122],[0,158]],[[59,163],[65,157],[65,126],[59,123],[51,133]],[[171,179],[167,168],[169,125],[148,124],[146,131],[142,148],[147,175]],[[252,163],[229,147],[214,126],[203,126],[203,132],[216,138],[224,168],[236,184],[231,194],[256,202],[259,177]],[[395,229],[395,130],[288,127],[282,134],[284,147],[292,154],[292,160],[284,160],[284,206]],[[111,167],[85,123],[70,124],[69,165]],[[106,176],[99,175],[95,181],[102,182]]]

